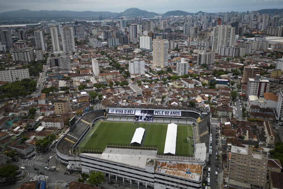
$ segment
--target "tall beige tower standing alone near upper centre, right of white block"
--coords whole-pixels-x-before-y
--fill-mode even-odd
[[[162,36],[156,36],[153,39],[153,66],[164,68],[168,66],[168,40],[162,39]]]

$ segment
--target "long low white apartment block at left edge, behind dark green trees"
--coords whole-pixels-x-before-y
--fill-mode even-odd
[[[26,78],[30,79],[28,68],[16,69],[15,67],[10,67],[9,69],[0,71],[0,81],[2,82],[12,83]]]

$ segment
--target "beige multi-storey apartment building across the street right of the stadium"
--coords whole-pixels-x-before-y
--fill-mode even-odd
[[[266,187],[266,177],[269,175],[269,164],[272,159],[268,159],[266,151],[253,151],[253,146],[247,148],[231,146],[231,159],[229,166],[229,178],[255,185],[256,188]],[[276,160],[276,162],[279,162]],[[280,164],[280,162],[279,162]],[[281,164],[279,165],[280,167]]]

